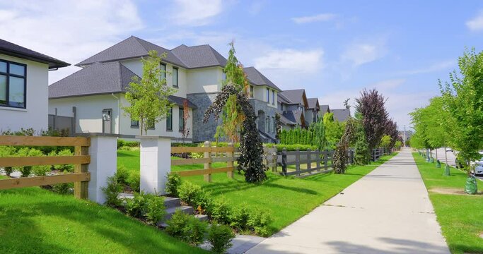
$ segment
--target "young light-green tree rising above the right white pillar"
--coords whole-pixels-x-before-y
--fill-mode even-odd
[[[170,107],[168,97],[175,93],[172,87],[166,85],[166,79],[161,78],[163,71],[160,68],[161,59],[165,54],[158,56],[158,52],[152,50],[149,56],[143,57],[143,78],[132,78],[126,92],[126,100],[129,106],[122,107],[124,112],[132,120],[139,121],[141,135],[146,135],[149,126],[152,126],[169,114]]]

